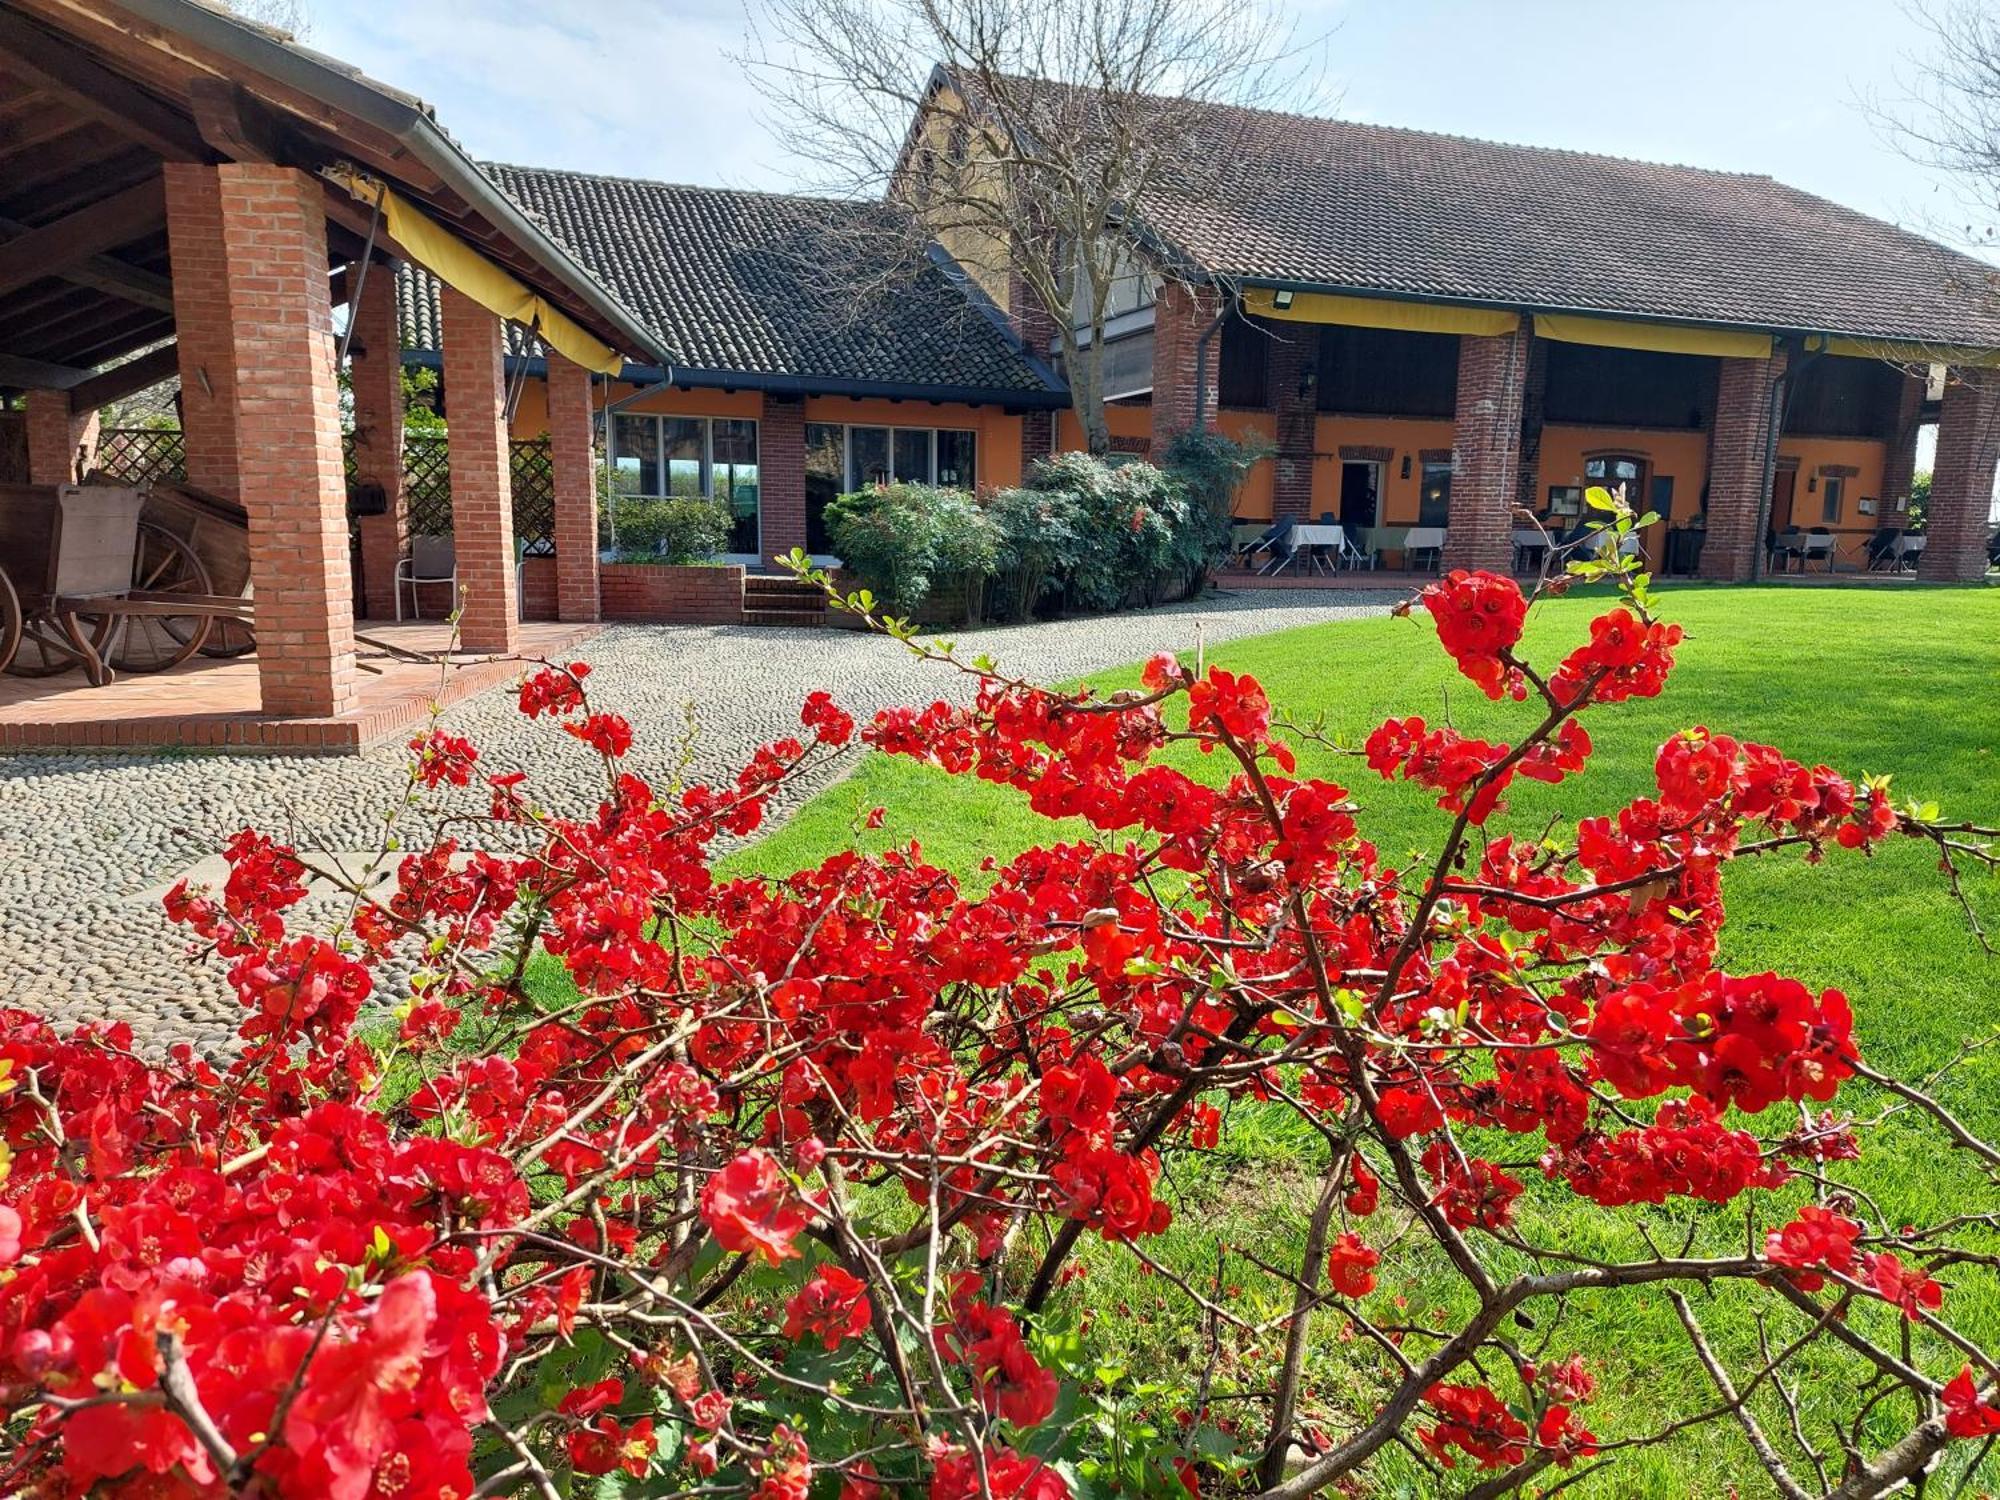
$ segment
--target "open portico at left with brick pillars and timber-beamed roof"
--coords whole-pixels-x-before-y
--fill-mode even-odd
[[[286,722],[380,716],[380,694],[364,702],[380,674],[358,656],[354,620],[356,606],[394,614],[408,544],[398,262],[444,288],[456,646],[522,646],[508,324],[550,358],[560,616],[596,620],[590,382],[626,360],[664,364],[666,350],[420,102],[192,0],[0,0],[0,116],[12,126],[0,132],[0,392],[26,448],[26,472],[0,480],[84,480],[96,410],[180,376],[188,488],[242,518],[256,642],[244,716],[270,726],[224,742],[296,744]],[[0,560],[36,574],[28,588],[42,564]],[[50,688],[92,692],[56,678],[0,694],[0,722],[32,718]],[[46,742],[0,744],[24,738]]]

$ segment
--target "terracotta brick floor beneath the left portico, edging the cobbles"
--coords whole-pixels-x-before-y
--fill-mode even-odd
[[[456,650],[450,626],[370,624],[356,642],[360,702],[332,716],[266,714],[258,660],[194,656],[92,688],[80,672],[0,676],[0,750],[288,750],[356,754],[486,688],[522,662],[570,652],[600,626],[522,624],[514,654]]]

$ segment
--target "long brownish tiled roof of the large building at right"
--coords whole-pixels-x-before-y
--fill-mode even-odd
[[[1768,176],[1160,108],[1228,170],[1144,218],[1224,276],[2000,346],[1994,266]]]

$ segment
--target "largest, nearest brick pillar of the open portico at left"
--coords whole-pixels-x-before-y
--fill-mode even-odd
[[[236,412],[214,426],[232,430],[240,448],[236,496],[250,516],[262,706],[346,714],[360,706],[360,682],[326,206],[318,180],[294,168],[200,170],[216,174],[220,198],[232,340],[222,376]],[[210,386],[216,374],[208,366]]]

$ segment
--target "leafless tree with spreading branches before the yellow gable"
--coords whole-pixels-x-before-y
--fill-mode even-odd
[[[744,60],[802,178],[906,210],[874,262],[938,244],[1054,342],[1102,454],[1106,320],[1200,280],[1148,204],[1240,184],[1256,110],[1312,102],[1302,56],[1266,0],[754,0]]]

